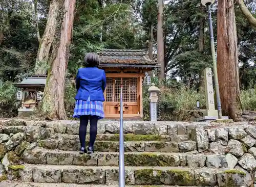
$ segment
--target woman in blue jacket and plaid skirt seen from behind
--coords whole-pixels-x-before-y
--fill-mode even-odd
[[[97,123],[104,118],[103,101],[106,87],[106,75],[104,70],[99,69],[99,56],[88,53],[84,57],[84,68],[78,69],[76,76],[76,105],[74,118],[80,118],[79,139],[81,148],[79,153],[94,152],[94,142],[97,136]],[[86,147],[86,131],[90,120],[90,143],[88,151]]]

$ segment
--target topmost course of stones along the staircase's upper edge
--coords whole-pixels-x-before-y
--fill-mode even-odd
[[[188,135],[196,126],[204,126],[204,122],[149,122],[149,121],[124,121],[124,133],[135,135]],[[26,128],[48,128],[56,133],[78,135],[79,121],[26,121],[26,120],[2,120],[0,119],[0,133],[18,133],[26,131]],[[98,133],[119,133],[119,121],[99,121]],[[88,125],[88,131],[90,124]]]

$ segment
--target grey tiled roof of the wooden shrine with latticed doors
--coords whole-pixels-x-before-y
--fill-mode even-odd
[[[157,65],[142,49],[104,49],[98,55],[101,64]]]

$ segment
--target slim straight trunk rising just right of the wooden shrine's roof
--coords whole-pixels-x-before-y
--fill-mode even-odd
[[[164,79],[163,2],[158,0],[157,15],[157,62],[160,64],[160,79]]]

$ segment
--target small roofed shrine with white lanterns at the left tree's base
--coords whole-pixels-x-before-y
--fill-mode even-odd
[[[18,109],[18,116],[29,117],[37,108],[46,85],[47,75],[29,75],[22,82],[13,84],[20,88],[17,100],[22,102]]]

